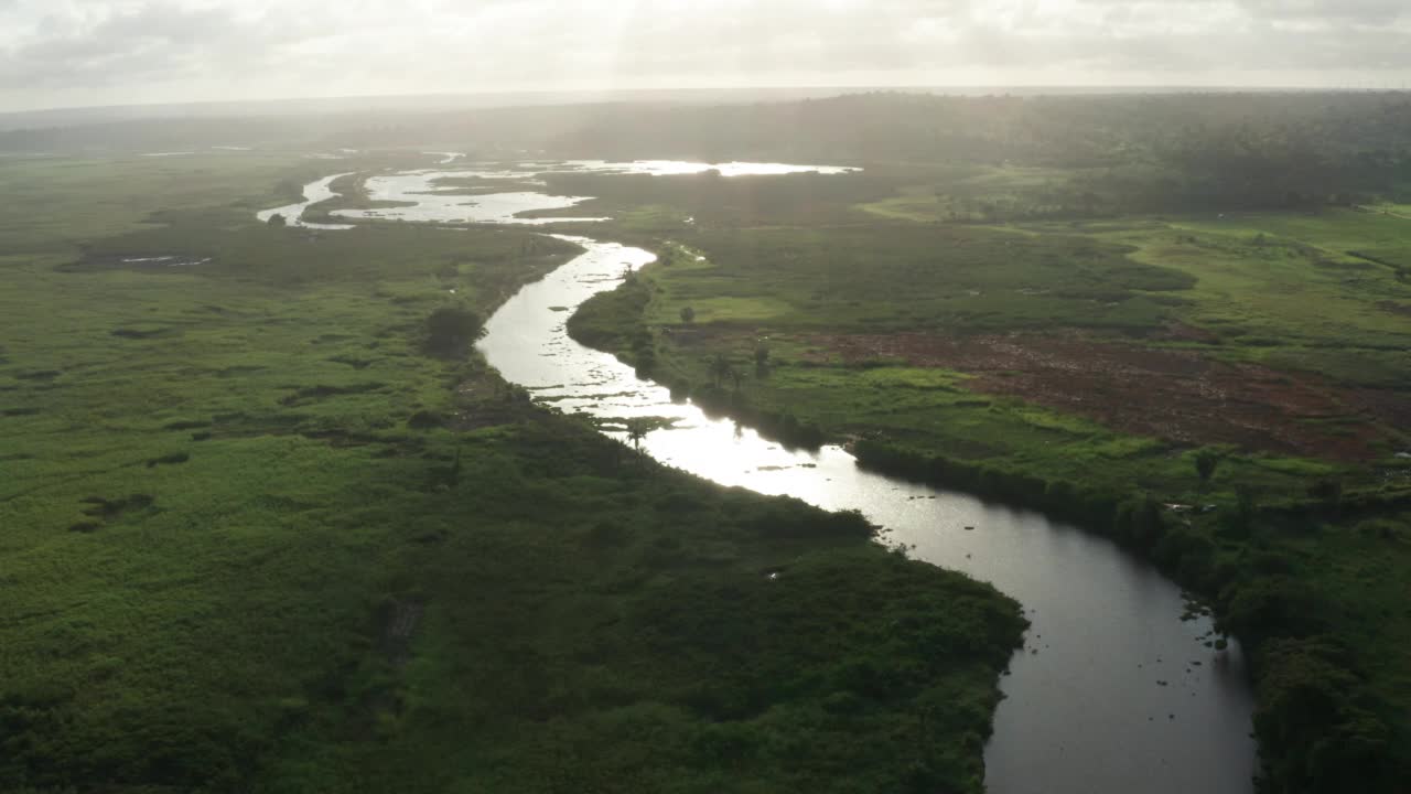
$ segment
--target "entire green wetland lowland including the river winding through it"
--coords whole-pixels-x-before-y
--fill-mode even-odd
[[[1394,185],[670,129],[0,160],[0,790],[1394,790]]]

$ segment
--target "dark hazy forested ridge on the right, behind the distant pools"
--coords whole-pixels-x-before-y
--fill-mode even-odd
[[[602,157],[1017,164],[1079,171],[1027,216],[1316,208],[1411,179],[1411,96],[944,97],[650,109],[553,141]],[[1009,213],[1013,215],[1013,213]]]

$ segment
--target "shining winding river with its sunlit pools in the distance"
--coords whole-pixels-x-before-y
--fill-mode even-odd
[[[567,167],[704,168],[660,161]],[[840,170],[739,162],[721,168],[722,175],[793,171]],[[440,179],[487,174],[522,179],[533,171],[409,171],[374,177],[368,191],[374,199],[409,202],[387,211],[395,216],[435,223],[523,222],[514,213],[586,201],[532,192],[466,196],[436,186]],[[989,791],[1253,791],[1253,702],[1239,646],[1205,647],[1209,620],[1181,619],[1184,599],[1174,583],[1116,545],[1040,514],[871,473],[837,446],[787,451],[732,421],[711,420],[690,403],[672,401],[665,387],[579,345],[564,329],[566,307],[612,290],[625,270],[653,256],[566,239],[586,253],[526,285],[488,322],[480,349],[507,380],[564,411],[669,417],[669,427],[642,441],[659,461],[722,485],[789,494],[830,510],[861,510],[912,557],[992,582],[1024,605],[1033,626],[1002,680],[1006,699],[985,753]],[[624,429],[610,425],[607,432],[622,438]]]

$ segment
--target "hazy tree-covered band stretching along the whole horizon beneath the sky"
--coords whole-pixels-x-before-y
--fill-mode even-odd
[[[231,141],[437,146],[485,158],[539,150],[608,160],[1020,164],[1082,172],[1047,203],[1034,203],[1036,213],[1309,208],[1411,182],[1411,95],[862,93],[718,106],[168,119],[13,130],[0,133],[0,151],[152,151]]]

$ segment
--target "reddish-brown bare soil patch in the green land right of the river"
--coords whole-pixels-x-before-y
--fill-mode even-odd
[[[904,360],[972,373],[974,389],[1079,414],[1113,429],[1181,444],[1366,461],[1380,422],[1407,413],[1394,394],[1232,365],[1194,350],[1137,348],[1077,335],[816,335],[845,362]],[[1369,421],[1370,420],[1370,421]]]

